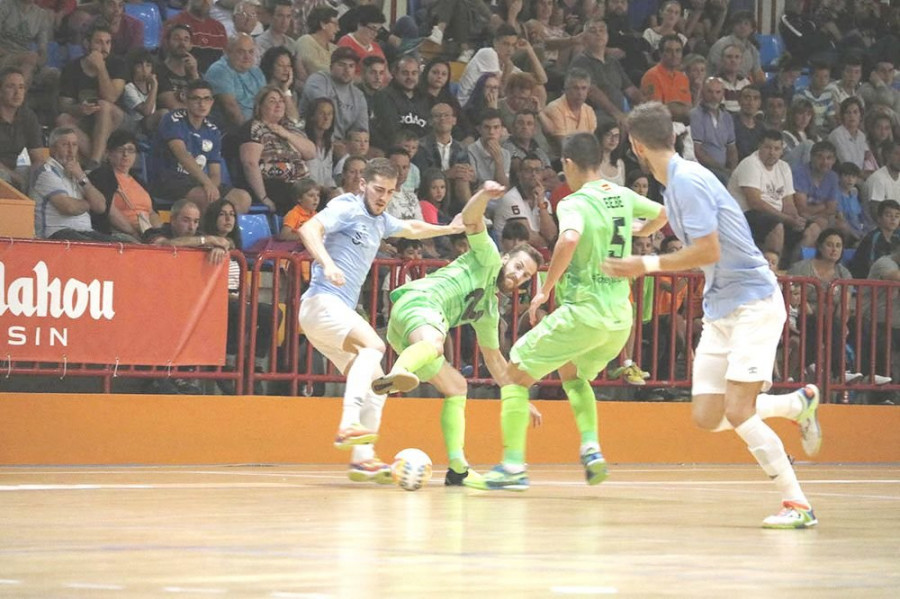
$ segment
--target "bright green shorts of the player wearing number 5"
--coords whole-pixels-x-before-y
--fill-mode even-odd
[[[509,360],[535,380],[571,362],[578,378],[591,381],[621,353],[630,332],[630,328],[591,327],[572,306],[564,305],[521,337],[510,350]]]

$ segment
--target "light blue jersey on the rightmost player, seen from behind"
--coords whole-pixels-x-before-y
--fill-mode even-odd
[[[685,244],[719,234],[719,261],[703,267],[703,312],[718,320],[755,300],[770,297],[778,282],[753,243],[750,226],[737,201],[711,172],[675,155],[669,161],[669,185],[663,191],[666,215]]]

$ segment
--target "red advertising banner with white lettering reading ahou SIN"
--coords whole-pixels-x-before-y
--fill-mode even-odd
[[[197,250],[0,241],[0,361],[221,365],[227,271]]]

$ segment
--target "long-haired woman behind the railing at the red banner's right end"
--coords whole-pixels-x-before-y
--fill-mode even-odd
[[[241,230],[237,226],[237,212],[234,204],[222,198],[212,202],[206,207],[203,217],[200,219],[200,231],[207,235],[217,235],[228,239],[234,248],[241,247]],[[241,301],[239,291],[241,288],[241,269],[236,260],[228,262],[228,332],[225,342],[225,353],[234,356],[238,348],[239,319],[241,314]],[[250,305],[249,295],[245,297],[244,310]],[[249,319],[249,315],[245,316]],[[264,302],[257,304],[256,311],[256,351],[254,359],[257,367],[269,355],[272,344],[272,331],[275,330],[272,305]],[[233,358],[232,358],[232,364]],[[220,384],[220,386],[223,386]]]

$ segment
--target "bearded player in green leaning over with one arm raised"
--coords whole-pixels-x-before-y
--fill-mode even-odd
[[[502,256],[487,234],[484,210],[488,200],[506,190],[493,181],[484,184],[462,210],[469,251],[423,279],[391,292],[387,339],[398,353],[391,371],[372,382],[372,391],[407,392],[428,381],[444,394],[441,428],[450,459],[444,483],[462,485],[469,470],[465,441],[466,379],[444,361],[444,340],[450,329],[471,323],[484,363],[499,384],[506,372],[500,353],[500,312],[497,291],[510,294],[530,280],[541,265],[541,255],[522,245]]]

